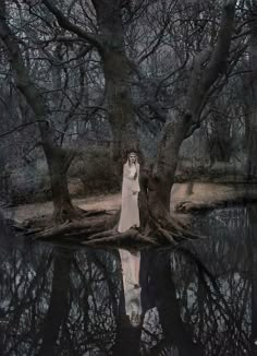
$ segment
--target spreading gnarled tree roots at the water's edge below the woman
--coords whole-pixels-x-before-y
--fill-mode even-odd
[[[41,229],[38,227],[26,230],[27,236],[33,239],[62,239],[79,242],[84,246],[120,246],[143,245],[178,246],[188,239],[201,238],[193,234],[189,226],[166,214],[163,217],[149,215],[146,226],[130,228],[125,233],[118,233],[117,226],[120,212],[89,211],[85,212],[85,218],[65,222],[61,225],[50,226]]]

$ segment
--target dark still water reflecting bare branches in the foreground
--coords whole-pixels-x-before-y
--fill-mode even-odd
[[[136,325],[118,250],[17,244],[0,226],[0,355],[257,355],[257,209],[196,224],[208,239],[140,252]]]

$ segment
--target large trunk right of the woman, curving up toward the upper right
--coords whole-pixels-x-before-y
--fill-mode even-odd
[[[147,202],[148,215],[154,217],[155,228],[164,229],[162,234],[166,234],[167,229],[172,232],[175,237],[183,233],[180,226],[173,224],[169,217],[170,192],[174,182],[179,152],[185,138],[199,127],[208,91],[225,70],[225,59],[229,56],[233,33],[234,13],[235,1],[224,1],[221,28],[216,47],[212,50],[204,50],[195,58],[184,112],[166,123],[156,163],[148,171],[148,179],[143,178],[145,183],[143,194],[147,192],[147,199],[143,199],[143,201]],[[203,70],[201,64],[206,60],[209,60],[209,64]],[[142,210],[145,210],[144,204]],[[146,214],[142,213],[142,215],[145,216]],[[148,223],[146,223],[147,225]],[[167,237],[169,238],[169,235]]]

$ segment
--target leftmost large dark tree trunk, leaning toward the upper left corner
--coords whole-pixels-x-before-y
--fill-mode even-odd
[[[57,217],[58,221],[66,219],[66,217],[72,217],[76,212],[71,202],[66,179],[66,171],[72,159],[70,155],[62,151],[54,142],[53,131],[49,122],[46,121],[48,110],[41,94],[30,80],[15,35],[11,32],[11,28],[5,22],[4,1],[0,4],[0,38],[7,47],[10,62],[14,71],[15,84],[34,111],[36,120],[38,120],[41,145],[51,178],[54,217]]]

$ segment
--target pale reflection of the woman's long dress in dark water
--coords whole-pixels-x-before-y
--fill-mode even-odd
[[[142,317],[139,266],[140,252],[131,253],[119,249],[122,264],[126,315],[133,327],[138,327]]]

